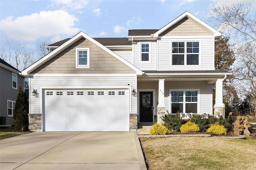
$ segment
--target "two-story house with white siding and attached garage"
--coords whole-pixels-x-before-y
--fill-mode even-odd
[[[220,36],[185,12],[160,30],[129,30],[128,38],[80,32],[48,45],[52,52],[22,71],[30,81],[29,128],[131,131],[161,123],[167,111],[223,115],[222,81],[231,73],[214,70]]]

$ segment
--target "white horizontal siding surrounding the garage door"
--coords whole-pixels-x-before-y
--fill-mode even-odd
[[[130,84],[130,85],[128,85]],[[137,77],[131,74],[130,76],[112,76],[112,77],[66,77],[60,76],[42,76],[34,75],[30,78],[30,113],[42,113],[42,90],[47,89],[130,89],[137,87]],[[37,89],[39,97],[32,96],[33,89]],[[131,93],[129,91],[129,93]],[[130,113],[137,113],[137,98],[131,97]]]

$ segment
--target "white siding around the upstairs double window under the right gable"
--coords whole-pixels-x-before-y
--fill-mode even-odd
[[[199,41],[201,64],[199,65],[171,65],[171,42],[174,41]],[[176,71],[176,70],[214,70],[214,38],[177,38],[162,37],[158,39],[158,70]]]

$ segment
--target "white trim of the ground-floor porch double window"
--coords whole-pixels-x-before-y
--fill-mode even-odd
[[[171,92],[172,91],[198,91],[198,93],[197,93],[197,114],[199,114],[200,113],[200,89],[169,89],[169,111],[170,111],[170,113],[172,113],[172,103],[171,103],[171,96],[172,96],[172,94],[171,94]],[[186,94],[185,93],[183,93],[183,99],[184,99],[184,96],[185,96]],[[186,96],[185,96],[185,99],[186,99]],[[186,103],[186,102],[182,102],[182,103]],[[183,111],[185,111],[186,110],[186,105],[183,105]]]

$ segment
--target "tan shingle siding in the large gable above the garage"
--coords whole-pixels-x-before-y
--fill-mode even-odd
[[[90,68],[76,68],[76,48],[90,48]],[[59,74],[81,74],[81,73],[135,73],[134,70],[124,65],[121,61],[106,53],[93,43],[82,38],[70,45],[60,54],[50,59],[44,65],[38,67],[32,73],[59,73]]]

